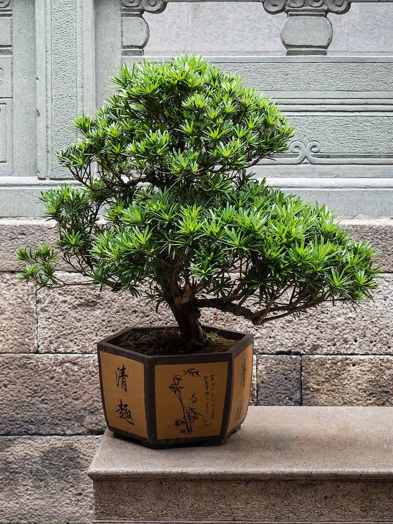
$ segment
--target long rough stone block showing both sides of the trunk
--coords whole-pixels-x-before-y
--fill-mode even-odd
[[[37,297],[39,352],[93,353],[97,340],[127,326],[174,323],[165,307],[157,315],[146,299],[126,293],[73,287],[38,290]],[[375,302],[363,304],[358,311],[323,304],[300,319],[287,316],[263,328],[212,309],[204,309],[201,320],[217,328],[253,332],[259,354],[389,355],[393,354],[393,275],[383,275]]]

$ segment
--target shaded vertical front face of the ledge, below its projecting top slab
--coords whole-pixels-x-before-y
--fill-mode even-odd
[[[92,524],[382,524],[393,483],[94,481]]]

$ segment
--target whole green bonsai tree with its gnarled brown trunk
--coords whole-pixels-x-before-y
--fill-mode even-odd
[[[166,304],[189,351],[204,344],[202,308],[263,325],[322,302],[372,298],[373,249],[324,206],[266,187],[247,168],[286,150],[277,106],[202,58],[122,67],[117,91],[75,119],[58,153],[81,187],[42,193],[56,247],[28,247],[21,278],[68,286],[62,258],[97,284]]]

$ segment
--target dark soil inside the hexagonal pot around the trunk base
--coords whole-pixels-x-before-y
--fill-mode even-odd
[[[220,353],[229,350],[235,340],[208,333],[204,344],[187,344],[178,331],[171,329],[151,333],[134,333],[117,345],[144,355],[187,355],[190,353]]]

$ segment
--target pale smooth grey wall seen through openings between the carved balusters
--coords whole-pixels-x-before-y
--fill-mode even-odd
[[[329,13],[333,39],[329,54],[393,53],[391,3],[353,3],[344,15]],[[145,13],[150,28],[145,54],[195,51],[213,56],[282,56],[285,12],[269,15],[261,2],[172,2],[161,15]]]

